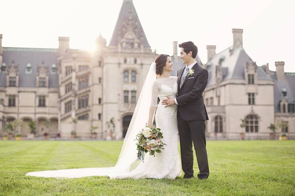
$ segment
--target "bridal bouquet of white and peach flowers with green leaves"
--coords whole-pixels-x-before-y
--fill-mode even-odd
[[[161,153],[160,149],[164,149],[162,147],[167,145],[161,141],[163,138],[163,133],[160,132],[160,130],[161,129],[159,128],[146,125],[145,128],[143,128],[139,134],[136,135],[136,150],[138,150],[138,160],[142,158],[142,161],[144,161],[144,152],[155,156],[155,152]]]

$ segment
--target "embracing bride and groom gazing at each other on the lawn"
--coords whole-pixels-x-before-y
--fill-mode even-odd
[[[208,71],[195,61],[198,48],[191,41],[179,44],[183,66],[178,77],[170,76],[173,63],[169,55],[160,54],[150,66],[141,90],[132,120],[125,136],[120,156],[114,167],[77,168],[54,171],[29,172],[28,176],[78,178],[86,176],[109,176],[124,178],[168,178],[194,177],[193,144],[199,166],[199,179],[209,176],[206,151],[205,120],[208,115],[203,102],[203,91],[208,82]],[[136,134],[148,125],[153,126],[153,118],[158,97],[160,102],[155,114],[156,127],[163,132],[163,143],[167,144],[162,153],[146,155],[144,162],[136,161]],[[180,140],[181,163],[178,153]]]

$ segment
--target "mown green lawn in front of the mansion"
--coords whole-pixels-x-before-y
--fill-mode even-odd
[[[295,195],[295,141],[207,141],[210,176],[77,179],[29,171],[109,167],[122,141],[0,141],[0,195]],[[194,170],[198,173],[195,158]]]

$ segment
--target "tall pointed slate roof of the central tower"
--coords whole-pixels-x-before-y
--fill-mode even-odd
[[[126,19],[129,17],[129,12],[131,12],[132,18],[135,18],[137,21],[137,39],[140,40],[140,35],[142,34],[144,47],[151,47],[150,44],[148,43],[147,37],[144,34],[144,29],[141,26],[140,20],[138,18],[138,15],[136,13],[136,10],[132,1],[123,2],[109,46],[118,45],[118,34],[119,34],[119,31],[122,30],[124,21],[126,21]],[[121,36],[124,36],[124,35],[121,35]]]

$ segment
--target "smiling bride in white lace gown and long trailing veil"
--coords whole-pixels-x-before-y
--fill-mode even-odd
[[[180,176],[181,163],[178,153],[177,105],[164,107],[162,104],[159,104],[156,111],[156,127],[163,132],[162,141],[167,144],[162,153],[155,153],[155,157],[147,153],[144,162],[137,161],[136,141],[134,140],[136,134],[144,128],[147,119],[148,125],[153,126],[152,122],[158,97],[160,98],[160,103],[167,97],[176,97],[178,77],[169,75],[169,72],[172,70],[173,63],[169,55],[160,54],[155,58],[155,62],[151,64],[128,127],[120,156],[114,167],[35,171],[29,172],[26,175],[54,177],[57,179],[86,176],[109,176],[112,179],[175,179],[177,176]]]

